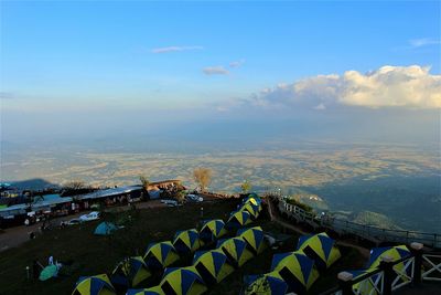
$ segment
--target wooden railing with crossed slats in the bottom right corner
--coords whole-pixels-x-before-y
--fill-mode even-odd
[[[409,256],[396,261],[384,256],[378,267],[356,277],[348,272],[340,273],[338,286],[321,295],[390,295],[409,284],[420,286],[424,281],[440,282],[441,253],[423,253],[420,243],[411,243],[410,249]],[[421,272],[423,266],[428,267],[426,272]],[[434,273],[439,276],[432,276]]]

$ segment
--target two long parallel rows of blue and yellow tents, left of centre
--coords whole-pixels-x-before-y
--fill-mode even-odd
[[[128,295],[202,294],[208,286],[220,282],[263,251],[261,228],[243,228],[257,219],[260,211],[261,199],[251,193],[230,213],[226,223],[220,219],[206,220],[200,231],[178,231],[173,241],[151,243],[143,256],[128,257],[118,263],[110,277],[106,274],[80,277],[73,295],[116,294],[114,286],[128,287]],[[236,232],[236,236],[223,239],[228,232]],[[203,246],[214,249],[198,251]],[[181,256],[189,254],[194,254],[191,266],[170,267]],[[163,273],[158,286],[148,289],[133,288],[153,273]]]

